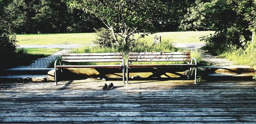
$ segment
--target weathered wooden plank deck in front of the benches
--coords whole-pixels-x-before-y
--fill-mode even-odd
[[[1,83],[5,122],[256,122],[256,82],[103,81]]]

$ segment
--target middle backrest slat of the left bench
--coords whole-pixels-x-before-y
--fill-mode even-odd
[[[62,59],[122,59],[122,56],[62,56]]]

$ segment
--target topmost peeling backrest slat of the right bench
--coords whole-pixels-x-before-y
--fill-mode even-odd
[[[190,55],[190,52],[142,52],[142,53],[136,53],[136,52],[130,52],[129,55]]]

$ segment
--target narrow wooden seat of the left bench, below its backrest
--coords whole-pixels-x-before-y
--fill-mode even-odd
[[[56,68],[122,68],[122,65],[57,65]]]

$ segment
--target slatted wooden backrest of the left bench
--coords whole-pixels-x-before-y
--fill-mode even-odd
[[[122,53],[62,54],[62,62],[122,62]]]

